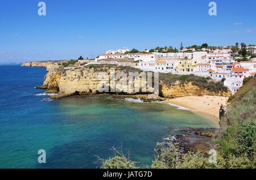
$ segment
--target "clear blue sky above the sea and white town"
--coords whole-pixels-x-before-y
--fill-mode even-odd
[[[214,0],[212,0],[214,1]],[[0,62],[96,57],[108,49],[256,44],[256,1],[36,0],[0,2]]]

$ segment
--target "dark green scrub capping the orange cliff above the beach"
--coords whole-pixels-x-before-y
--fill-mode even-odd
[[[212,79],[195,76],[194,74],[178,75],[172,73],[159,73],[159,79],[169,87],[174,85],[177,81],[181,81],[182,83],[192,82],[193,85],[198,86],[201,89],[216,93],[220,91],[228,91],[228,87],[224,86],[224,82],[215,82]]]

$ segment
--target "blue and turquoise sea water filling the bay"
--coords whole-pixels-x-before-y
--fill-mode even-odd
[[[112,146],[150,164],[173,128],[214,127],[208,119],[164,103],[110,98],[47,101],[46,69],[0,66],[0,168],[96,168]],[[38,150],[46,164],[38,164]]]

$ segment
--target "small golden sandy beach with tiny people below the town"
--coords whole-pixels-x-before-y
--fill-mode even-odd
[[[167,99],[165,102],[188,108],[197,114],[203,115],[219,124],[219,110],[221,104],[226,106],[228,97],[217,97],[204,95],[201,97],[181,97]]]

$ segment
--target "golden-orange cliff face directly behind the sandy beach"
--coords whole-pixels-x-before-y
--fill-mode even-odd
[[[168,87],[164,83],[161,83],[161,92],[164,98],[177,98],[177,97],[185,97],[185,96],[201,96],[201,95],[217,95],[229,97],[231,95],[230,92],[213,92],[205,89],[200,89],[200,87],[195,86],[192,82],[181,83],[177,81],[175,85]]]

